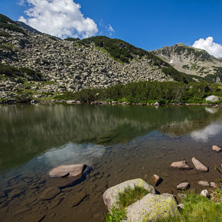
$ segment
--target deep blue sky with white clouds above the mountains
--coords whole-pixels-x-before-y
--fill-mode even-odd
[[[145,50],[177,43],[222,57],[222,0],[1,0],[0,13],[60,38],[106,35]]]

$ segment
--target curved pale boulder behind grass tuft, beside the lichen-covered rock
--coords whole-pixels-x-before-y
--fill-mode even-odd
[[[118,207],[117,202],[118,202],[119,193],[122,193],[127,187],[134,189],[135,186],[143,187],[151,194],[156,193],[154,187],[147,184],[142,179],[134,179],[134,180],[125,181],[116,186],[110,187],[104,192],[103,201],[105,205],[107,206],[108,210],[110,211],[111,207]]]

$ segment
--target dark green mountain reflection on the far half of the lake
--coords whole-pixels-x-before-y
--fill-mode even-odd
[[[191,133],[193,139],[207,140],[221,132],[221,114],[200,106],[0,106],[0,172],[44,152],[45,157],[56,159],[62,150],[69,155],[75,147],[79,155],[88,149],[85,144],[94,144],[90,149],[100,153],[105,145],[125,143],[152,131],[177,137]]]

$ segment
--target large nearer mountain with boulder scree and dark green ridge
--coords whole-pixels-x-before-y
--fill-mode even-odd
[[[187,51],[186,46],[183,48]],[[147,52],[106,36],[62,40],[0,14],[0,100],[23,101],[27,97],[44,100],[64,92],[106,88],[119,83],[188,83],[209,77],[187,72],[191,65],[188,59],[189,69],[177,70],[175,63],[170,64],[168,59],[171,58],[170,50],[169,53],[168,49],[166,53],[158,52],[161,51]],[[172,58],[177,56],[175,53]],[[216,63],[215,58],[209,57],[209,61],[220,67],[220,60]],[[212,75],[210,81],[220,76],[218,73]]]

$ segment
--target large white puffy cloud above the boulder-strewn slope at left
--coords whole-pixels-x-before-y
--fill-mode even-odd
[[[84,17],[81,6],[73,0],[24,0],[29,9],[19,21],[60,38],[87,38],[98,32],[96,23]],[[21,1],[22,2],[22,1]]]

